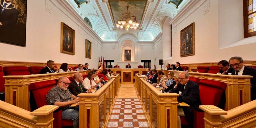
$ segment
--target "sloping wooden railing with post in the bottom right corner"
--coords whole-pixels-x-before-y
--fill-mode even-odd
[[[205,112],[205,127],[256,127],[256,100],[224,111],[214,105],[199,106]]]

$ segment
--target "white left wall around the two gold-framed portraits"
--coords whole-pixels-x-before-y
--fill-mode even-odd
[[[68,12],[57,0],[52,0],[51,13],[45,10],[45,0],[28,0],[26,47],[0,43],[0,60],[56,63],[89,63],[98,68],[101,42],[88,33],[88,29]],[[61,22],[76,31],[75,55],[60,52]],[[79,28],[80,24],[80,28]],[[81,33],[79,33],[81,31]],[[85,58],[85,39],[92,42],[92,59]]]

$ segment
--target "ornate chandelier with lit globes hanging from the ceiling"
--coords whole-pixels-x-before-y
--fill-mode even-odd
[[[135,21],[136,17],[131,16],[131,13],[129,12],[129,1],[127,0],[127,12],[123,13],[122,16],[120,16],[118,20],[118,24],[116,24],[116,28],[125,28],[126,30],[128,29],[136,29],[139,24]]]

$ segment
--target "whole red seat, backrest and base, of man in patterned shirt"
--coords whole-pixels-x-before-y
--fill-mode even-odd
[[[29,85],[29,90],[32,91],[37,107],[47,105],[46,94],[52,87],[57,84],[56,80],[47,80],[42,82],[36,82]],[[54,127],[61,128],[62,126],[73,126],[72,120],[62,120],[62,111],[54,112]]]

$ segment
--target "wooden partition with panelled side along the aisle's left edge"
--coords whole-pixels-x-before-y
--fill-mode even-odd
[[[106,127],[119,91],[119,74],[95,93],[80,93],[79,127]]]

